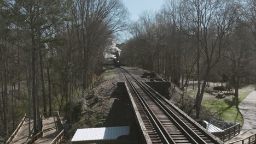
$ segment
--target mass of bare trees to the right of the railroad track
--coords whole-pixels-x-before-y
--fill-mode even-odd
[[[210,82],[238,89],[255,82],[256,1],[166,1],[133,23],[122,60],[155,71],[183,91],[196,81],[196,118]],[[221,85],[222,86],[222,85]]]

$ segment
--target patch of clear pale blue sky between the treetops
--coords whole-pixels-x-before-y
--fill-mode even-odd
[[[125,7],[131,14],[131,20],[136,21],[145,10],[159,10],[165,0],[123,0]]]

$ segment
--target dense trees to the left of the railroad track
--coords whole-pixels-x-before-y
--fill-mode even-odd
[[[70,113],[68,105],[101,74],[104,52],[128,28],[115,0],[0,1],[0,133],[28,114],[33,133],[40,112]],[[72,121],[72,119],[69,119]]]

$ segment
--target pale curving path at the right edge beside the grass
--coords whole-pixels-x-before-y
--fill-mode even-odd
[[[236,141],[246,138],[256,133],[256,91],[252,91],[240,104],[239,109],[243,115],[245,123],[240,135],[230,140]]]

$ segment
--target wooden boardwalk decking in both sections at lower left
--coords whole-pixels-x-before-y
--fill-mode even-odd
[[[29,137],[28,134],[28,123],[30,121],[31,130],[33,129],[33,118],[28,118],[25,114],[24,118],[15,129],[13,134],[7,140],[7,144],[31,144],[31,143],[40,143],[40,144],[57,144],[61,143],[63,139],[64,128],[61,122],[59,112],[51,112],[53,116],[44,117],[40,116],[42,130],[39,131],[36,135]]]

